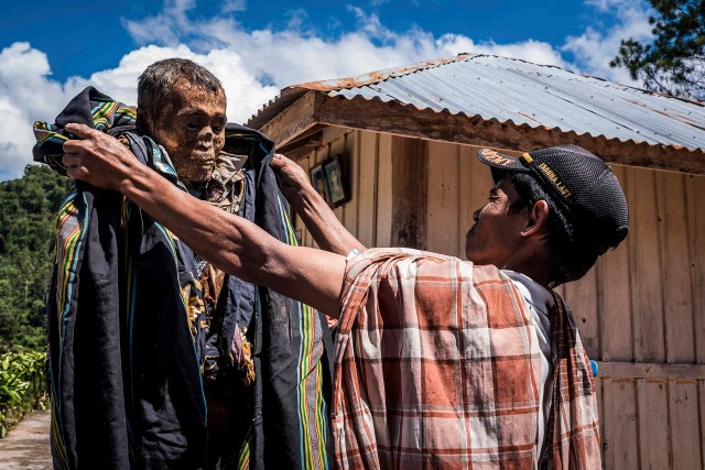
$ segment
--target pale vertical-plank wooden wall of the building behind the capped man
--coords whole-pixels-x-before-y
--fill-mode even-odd
[[[398,239],[392,187],[403,177],[394,162],[399,149],[419,142],[327,128],[323,145],[300,164],[346,155],[352,198],[336,214],[364,244],[388,247]],[[473,211],[492,186],[489,171],[477,147],[426,141],[423,149],[424,248],[464,258]],[[612,167],[629,201],[629,236],[584,278],[558,288],[600,365],[605,468],[704,469],[705,176]]]

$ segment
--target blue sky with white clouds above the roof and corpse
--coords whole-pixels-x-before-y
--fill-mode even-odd
[[[649,36],[642,0],[14,1],[0,17],[0,179],[31,162],[34,120],[87,85],[133,103],[139,73],[184,56],[243,122],[295,83],[451,56],[506,55],[629,83],[607,63]]]

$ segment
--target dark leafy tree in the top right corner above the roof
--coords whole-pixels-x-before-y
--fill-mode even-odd
[[[705,0],[650,0],[654,40],[621,42],[611,67],[626,67],[647,89],[705,101]]]

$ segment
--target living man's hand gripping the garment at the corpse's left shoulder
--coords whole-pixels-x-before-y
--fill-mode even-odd
[[[66,174],[97,188],[120,190],[137,163],[134,155],[116,138],[84,124],[66,124],[79,140],[64,143]]]

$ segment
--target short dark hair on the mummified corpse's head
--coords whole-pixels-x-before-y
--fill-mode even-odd
[[[137,86],[137,128],[149,133],[150,123],[154,125],[163,118],[164,103],[176,84],[185,79],[189,85],[213,94],[224,94],[223,84],[205,67],[187,58],[166,58],[147,67],[140,75]]]

